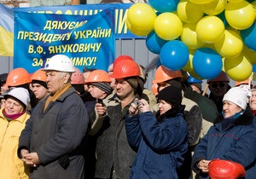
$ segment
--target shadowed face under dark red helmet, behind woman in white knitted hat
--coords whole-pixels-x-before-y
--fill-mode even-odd
[[[209,83],[209,90],[215,97],[222,97],[229,89],[229,84],[227,82],[212,82]]]

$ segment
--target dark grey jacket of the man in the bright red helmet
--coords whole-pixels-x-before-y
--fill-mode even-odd
[[[107,115],[96,134],[96,178],[110,178],[113,170],[119,179],[127,179],[136,152],[131,149],[125,132],[125,113],[130,105],[121,109],[119,98],[113,95],[108,101]]]

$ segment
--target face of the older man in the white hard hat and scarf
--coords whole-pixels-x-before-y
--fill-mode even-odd
[[[46,84],[48,87],[48,91],[52,95],[54,95],[55,92],[60,90],[64,86],[64,84],[67,84],[67,72],[48,71],[46,72],[46,76]]]

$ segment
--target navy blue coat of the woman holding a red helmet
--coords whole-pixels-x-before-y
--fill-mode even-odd
[[[201,172],[196,167],[201,159],[227,159],[241,164],[247,172],[246,178],[255,178],[256,127],[253,120],[253,113],[248,107],[241,116],[231,119],[230,123],[219,114],[215,124],[195,147],[193,170]],[[201,178],[209,176],[201,173]]]

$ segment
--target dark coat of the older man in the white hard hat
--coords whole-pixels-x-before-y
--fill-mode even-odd
[[[38,153],[41,164],[31,167],[30,178],[84,179],[84,136],[88,115],[76,91],[67,90],[56,101],[48,97],[34,108],[20,135],[19,150]]]

